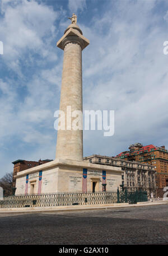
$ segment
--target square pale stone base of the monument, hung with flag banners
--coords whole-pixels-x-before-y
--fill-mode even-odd
[[[116,191],[122,184],[121,167],[55,159],[17,173],[16,195],[34,193]]]

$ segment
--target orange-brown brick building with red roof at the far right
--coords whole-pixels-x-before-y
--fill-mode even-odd
[[[136,143],[129,146],[129,151],[120,153],[116,158],[153,165],[156,171],[156,196],[163,197],[165,193],[163,189],[168,186],[168,151],[165,146],[143,146],[141,143]]]

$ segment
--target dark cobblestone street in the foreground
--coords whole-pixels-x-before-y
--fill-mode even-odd
[[[0,244],[168,244],[168,204],[0,214]]]

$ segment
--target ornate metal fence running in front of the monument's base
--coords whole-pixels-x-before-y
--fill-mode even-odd
[[[4,197],[0,208],[51,207],[111,203],[137,203],[147,201],[147,192],[61,192],[27,194]]]

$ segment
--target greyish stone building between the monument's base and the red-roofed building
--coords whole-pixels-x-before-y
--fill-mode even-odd
[[[127,188],[128,191],[141,189],[148,192],[148,197],[151,196],[151,193],[155,196],[155,168],[152,165],[100,155],[83,157],[83,160],[92,164],[122,167],[122,184],[120,184],[122,189]]]

